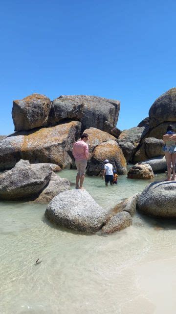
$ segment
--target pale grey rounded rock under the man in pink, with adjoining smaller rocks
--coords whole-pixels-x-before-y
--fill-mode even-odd
[[[138,194],[111,210],[99,206],[86,190],[71,190],[52,199],[45,216],[59,227],[74,231],[111,234],[132,224]]]

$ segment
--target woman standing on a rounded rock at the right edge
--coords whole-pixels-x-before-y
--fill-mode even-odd
[[[167,162],[167,181],[175,180],[175,163],[176,163],[176,133],[174,132],[174,127],[172,125],[168,126],[166,134],[163,135],[164,141],[164,152]],[[173,167],[173,175],[171,179],[171,163]]]

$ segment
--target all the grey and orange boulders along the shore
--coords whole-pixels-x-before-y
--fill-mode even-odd
[[[87,191],[70,190],[70,183],[53,171],[75,169],[74,142],[89,136],[87,175],[100,176],[108,157],[118,175],[153,179],[167,169],[162,151],[167,126],[176,126],[176,88],[159,98],[149,117],[137,127],[116,128],[120,102],[95,96],[60,96],[54,101],[32,94],[13,102],[15,133],[0,137],[0,200],[48,204],[45,216],[61,227],[110,234],[132,224],[139,210],[148,215],[175,217],[176,182],[149,184],[141,195],[102,209]]]

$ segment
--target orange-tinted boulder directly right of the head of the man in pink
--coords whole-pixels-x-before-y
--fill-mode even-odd
[[[116,138],[107,132],[98,130],[96,128],[89,128],[84,131],[88,134],[88,150],[91,153],[93,149],[103,142],[108,140],[116,141]]]

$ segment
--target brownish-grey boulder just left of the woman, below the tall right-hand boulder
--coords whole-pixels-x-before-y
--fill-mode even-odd
[[[163,146],[164,142],[162,139],[147,137],[140,144],[140,147],[133,156],[132,161],[135,163],[144,161],[146,159],[162,156],[164,155],[164,152],[162,150]]]

